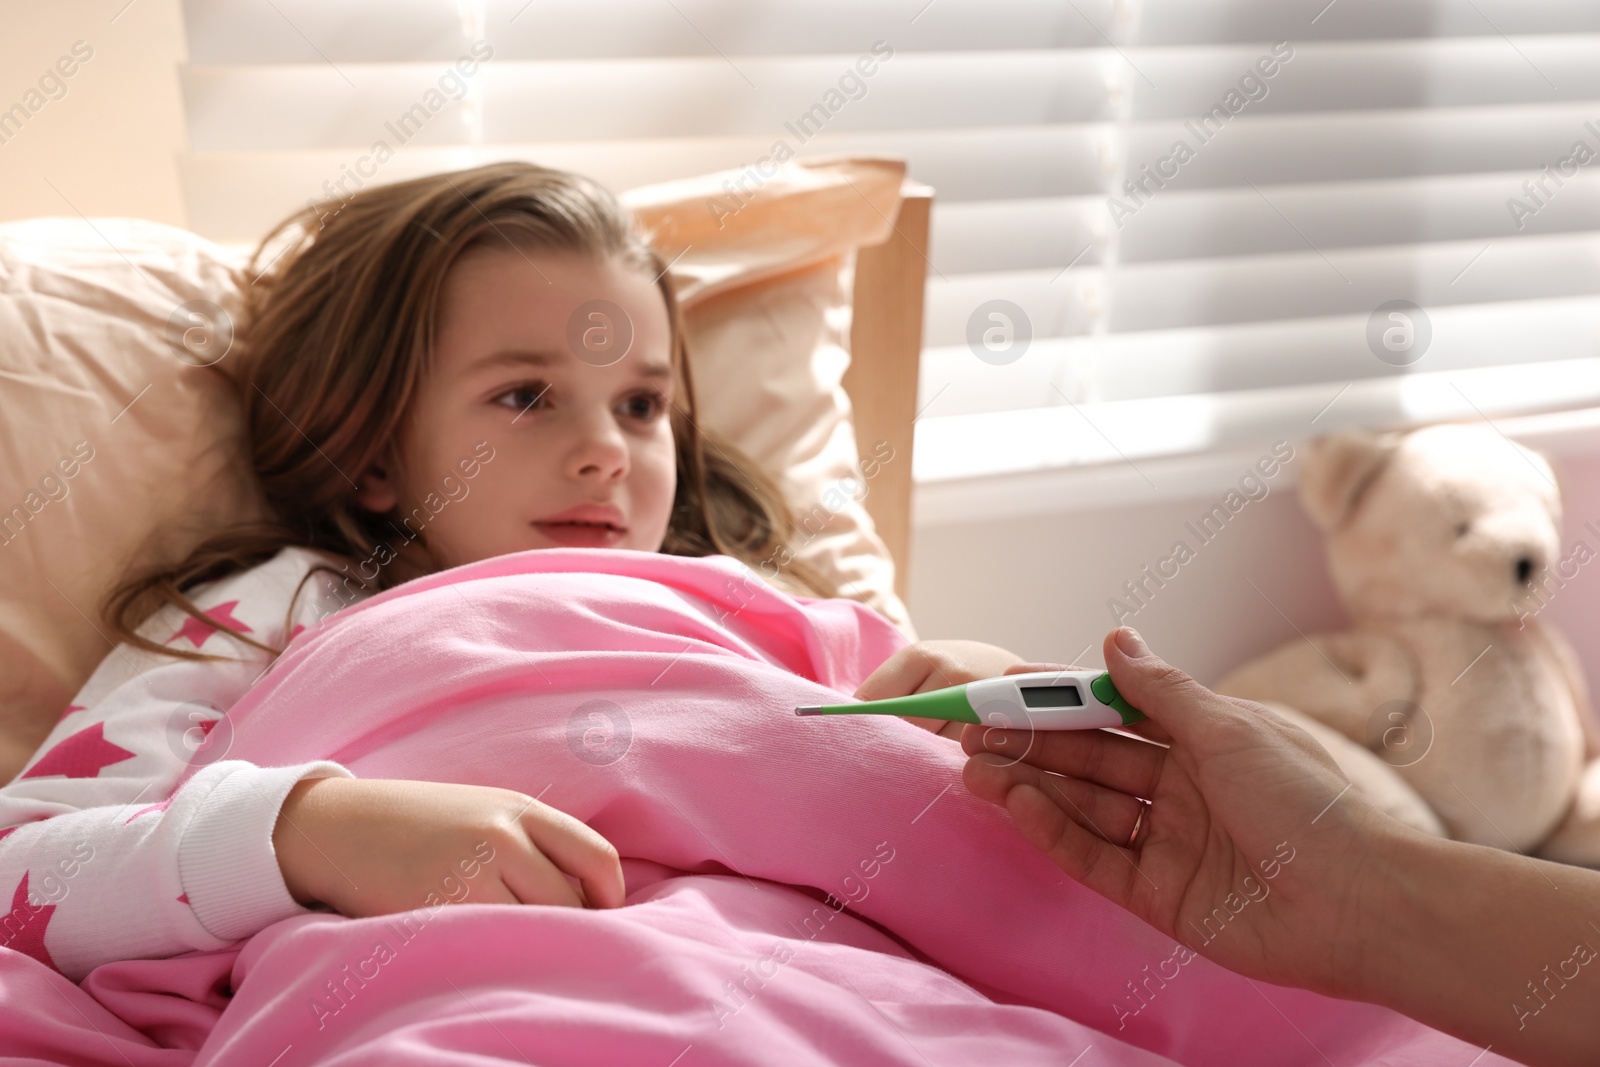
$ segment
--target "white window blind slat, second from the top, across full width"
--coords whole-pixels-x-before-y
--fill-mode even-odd
[[[494,59],[450,93],[472,86],[488,117],[485,136],[501,142],[627,139],[720,134],[782,136],[822,102],[840,78],[848,102],[826,117],[829,130],[918,130],[1104,123],[1117,118],[1114,94],[1130,96],[1134,126],[1154,123],[1150,146],[1166,154],[1182,128],[1222,104],[1253,70],[1256,48],[1141,50],[1133,62],[1160,88],[1134,77],[1122,56],[1093,51],[938,53],[896,51],[878,38],[858,53],[803,58],[718,56],[606,61]],[[1477,109],[1600,99],[1600,37],[1504,42],[1301,45],[1272,78],[1246,93],[1254,117],[1322,123],[1338,112]],[[854,77],[858,58],[893,77]],[[1552,80],[1544,85],[1523,56]],[[187,66],[182,90],[197,150],[366,147],[382,123],[434,88],[446,64],[382,62],[349,69],[318,64]],[[749,78],[749,82],[746,82]],[[1248,99],[1248,98],[1246,98]],[[1584,106],[1584,104],[1579,104]],[[310,122],[307,109],[317,114]],[[426,144],[461,141],[451,122],[422,131]],[[1568,109],[1570,110],[1570,109]],[[1224,115],[1227,123],[1232,118]],[[1387,117],[1386,117],[1387,118]],[[1160,122],[1173,120],[1173,122]],[[818,123],[821,126],[822,123]],[[1213,120],[1213,125],[1222,125]],[[1211,131],[1210,126],[1206,131]],[[1197,146],[1198,147],[1198,146]],[[1210,147],[1210,146],[1206,146]],[[1138,162],[1138,158],[1134,160]],[[1154,162],[1154,157],[1146,162]]]

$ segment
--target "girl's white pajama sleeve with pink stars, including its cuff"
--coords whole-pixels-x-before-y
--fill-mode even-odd
[[[282,646],[309,561],[283,552],[194,600],[218,625]],[[302,611],[310,621],[315,600]],[[0,789],[0,945],[72,979],[110,960],[224,945],[301,912],[272,848],[280,806],[302,779],[347,776],[334,763],[219,758],[224,712],[270,656],[173,611],[144,632],[229,659],[118,646]],[[190,763],[202,766],[174,793]]]

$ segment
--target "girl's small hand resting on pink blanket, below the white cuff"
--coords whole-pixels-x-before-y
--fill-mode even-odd
[[[272,832],[290,894],[342,915],[438,904],[618,907],[616,849],[509,789],[318,777],[290,790]]]

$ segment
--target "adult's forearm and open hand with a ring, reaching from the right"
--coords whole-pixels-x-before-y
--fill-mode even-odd
[[[1062,870],[1242,974],[1384,1005],[1526,1064],[1595,1061],[1600,873],[1390,819],[1346,792],[1310,734],[1211,693],[1133,630],[1107,637],[1106,665],[1149,741],[962,734],[968,787]]]

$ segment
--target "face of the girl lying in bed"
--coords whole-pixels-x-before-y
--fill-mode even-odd
[[[357,501],[398,509],[395,525],[426,534],[443,566],[563,545],[656,552],[677,488],[670,352],[648,275],[474,250],[445,278],[398,454],[362,477]]]

